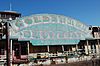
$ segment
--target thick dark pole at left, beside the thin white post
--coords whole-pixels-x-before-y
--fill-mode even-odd
[[[6,22],[6,50],[7,66],[10,66],[10,44],[9,44],[9,23]]]

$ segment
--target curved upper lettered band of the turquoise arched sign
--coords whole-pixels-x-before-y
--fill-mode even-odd
[[[45,24],[45,23],[59,23],[73,26],[83,32],[88,31],[88,26],[69,17],[55,15],[55,14],[37,14],[29,17],[19,18],[11,22],[13,29],[17,32],[26,27],[36,24]]]

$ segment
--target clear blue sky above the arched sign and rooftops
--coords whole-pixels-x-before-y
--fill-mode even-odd
[[[12,10],[29,16],[51,13],[69,16],[87,25],[100,26],[100,0],[0,0],[0,11]]]

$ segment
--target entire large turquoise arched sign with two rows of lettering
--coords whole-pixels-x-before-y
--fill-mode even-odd
[[[11,37],[29,40],[33,45],[78,44],[80,40],[92,37],[87,25],[54,14],[23,17],[12,21],[11,26]]]

